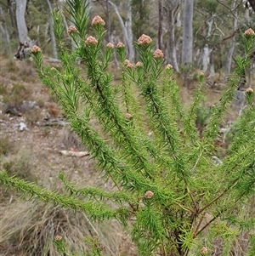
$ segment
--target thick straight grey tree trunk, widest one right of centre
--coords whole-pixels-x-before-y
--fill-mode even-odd
[[[184,2],[184,32],[183,32],[183,48],[182,48],[182,65],[188,65],[192,62],[193,4],[194,4],[194,0],[185,0]]]

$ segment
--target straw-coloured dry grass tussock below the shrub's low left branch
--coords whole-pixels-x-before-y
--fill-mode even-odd
[[[96,236],[104,247],[104,255],[124,255],[125,236],[115,222],[97,225],[84,213],[45,206],[41,202],[18,201],[7,205],[5,211],[1,211],[1,227],[0,253],[3,255],[57,256],[54,247],[57,235],[63,237],[72,253],[88,251],[84,237]]]

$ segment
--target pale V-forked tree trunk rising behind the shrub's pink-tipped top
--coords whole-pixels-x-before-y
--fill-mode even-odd
[[[132,32],[132,13],[131,13],[131,0],[128,0],[128,10],[127,10],[127,27],[124,24],[124,21],[122,20],[122,16],[119,13],[119,10],[116,7],[116,4],[109,1],[112,8],[116,12],[116,15],[118,17],[118,20],[120,21],[120,25],[122,27],[122,32],[124,36],[124,44],[127,47],[127,56],[128,60],[133,61],[134,59],[134,48],[133,48],[133,32]]]

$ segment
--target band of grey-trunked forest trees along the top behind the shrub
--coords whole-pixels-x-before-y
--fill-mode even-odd
[[[128,60],[136,58],[133,40],[144,33],[155,40],[156,47],[164,52],[166,61],[176,71],[184,71],[186,65],[192,64],[194,69],[207,71],[208,77],[214,77],[215,72],[229,74],[235,65],[233,58],[243,52],[241,31],[255,24],[253,0],[90,0],[88,3],[91,17],[99,14],[106,21],[107,41],[122,41],[127,45]],[[44,54],[56,58],[52,9],[61,9],[66,14],[65,1],[1,0],[2,54],[12,55],[20,40],[20,43],[36,42]],[[70,20],[65,20],[66,29],[70,24]]]

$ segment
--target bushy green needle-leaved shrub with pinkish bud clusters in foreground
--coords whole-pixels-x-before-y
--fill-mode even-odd
[[[59,174],[64,194],[10,177],[6,172],[0,174],[1,183],[44,202],[82,211],[90,219],[119,220],[130,230],[139,255],[198,255],[198,245],[207,245],[210,251],[214,237],[224,241],[227,255],[238,232],[226,218],[235,215],[236,208],[241,208],[255,189],[252,91],[246,92],[246,109],[223,163],[216,165],[213,156],[220,151],[216,144],[219,128],[239,77],[249,64],[254,37],[243,37],[246,55],[236,58],[237,67],[228,87],[218,105],[212,107],[201,134],[196,122],[204,100],[203,74],[198,76],[192,103],[185,108],[173,69],[164,65],[161,53],[154,52],[150,37],[136,43],[141,63],[133,65],[126,60],[123,45],[105,45],[105,29],[100,21],[92,22],[94,37],[85,37],[88,15],[87,9],[81,10],[86,7],[85,1],[67,3],[77,25],[77,31],[70,33],[77,48],[71,51],[64,43],[65,29],[56,11],[59,70],[42,65],[42,50],[32,54],[42,82],[97,160],[99,172],[105,180],[111,179],[116,191],[78,189],[64,174]],[[81,17],[86,20],[81,22]],[[113,85],[114,74],[108,71],[115,50],[122,65],[117,85]],[[205,243],[201,243],[202,235]],[[57,241],[57,247],[64,250],[62,241]],[[88,255],[100,255],[96,240],[91,244]]]

